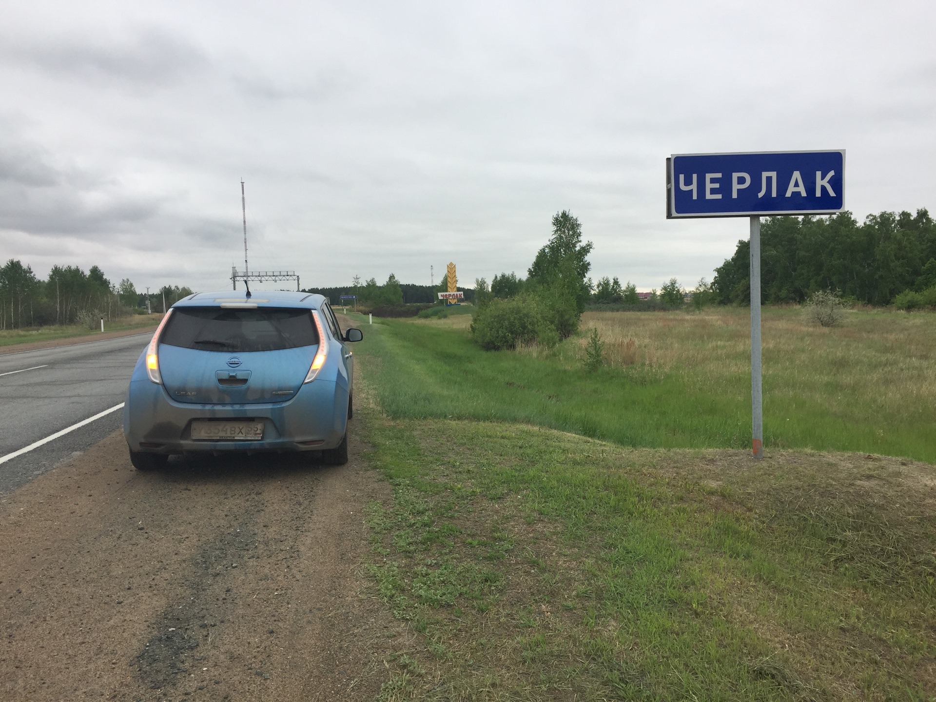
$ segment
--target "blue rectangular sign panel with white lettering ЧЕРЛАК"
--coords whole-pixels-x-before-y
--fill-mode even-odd
[[[830,214],[844,207],[844,149],[666,159],[668,219]]]

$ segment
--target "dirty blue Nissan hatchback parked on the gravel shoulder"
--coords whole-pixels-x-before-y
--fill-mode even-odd
[[[320,452],[347,462],[360,329],[301,292],[196,293],[163,317],[130,378],[130,461],[157,469],[172,454]]]

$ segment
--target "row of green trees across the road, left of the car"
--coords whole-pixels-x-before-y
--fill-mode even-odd
[[[188,287],[164,285],[147,297],[128,278],[112,284],[97,266],[87,272],[78,266],[53,266],[43,280],[32,266],[10,258],[0,268],[0,329],[51,324],[91,326],[102,317],[111,320],[142,312],[147,302],[153,312],[163,312],[164,306],[191,294]]]

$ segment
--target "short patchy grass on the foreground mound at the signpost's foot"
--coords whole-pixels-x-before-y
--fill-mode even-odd
[[[381,699],[934,699],[925,464],[361,417]]]

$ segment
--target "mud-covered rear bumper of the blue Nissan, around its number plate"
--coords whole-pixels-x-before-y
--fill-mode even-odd
[[[131,451],[160,454],[320,451],[341,444],[347,406],[347,390],[324,379],[303,385],[286,402],[255,404],[176,402],[163,386],[140,379],[127,391],[124,437]],[[248,418],[263,422],[261,440],[192,439],[195,419]]]

